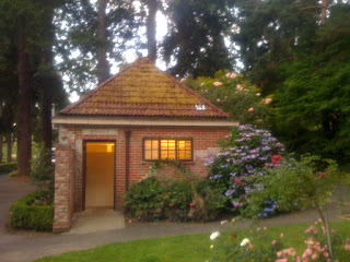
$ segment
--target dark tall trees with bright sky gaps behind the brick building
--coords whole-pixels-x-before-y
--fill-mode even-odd
[[[158,13],[167,23],[162,40]],[[0,145],[15,138],[27,176],[32,139],[51,147],[63,82],[82,94],[132,49],[179,78],[243,63],[273,96],[268,124],[291,150],[347,158],[349,13],[348,2],[331,0],[0,0]]]

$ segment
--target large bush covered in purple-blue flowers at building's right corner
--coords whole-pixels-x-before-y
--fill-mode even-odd
[[[245,206],[250,192],[264,187],[258,177],[266,176],[266,169],[279,165],[284,152],[283,145],[268,131],[252,126],[240,126],[221,142],[222,153],[210,155],[206,165],[210,167],[209,180],[213,188],[225,195],[230,210]],[[277,210],[277,203],[266,200],[262,216]]]

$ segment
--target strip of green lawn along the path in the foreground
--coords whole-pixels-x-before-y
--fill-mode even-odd
[[[300,254],[305,248],[305,229],[310,224],[296,224],[267,228],[272,239],[278,239],[283,233],[284,247],[294,247]],[[350,237],[350,222],[331,223],[331,228]],[[244,238],[248,230],[238,230],[238,238]],[[220,238],[230,238],[231,231],[223,233]],[[36,262],[203,262],[212,257],[209,239],[210,234],[163,237],[145,240],[133,240],[120,243],[110,243],[97,248],[47,257]],[[214,240],[219,241],[219,239]]]

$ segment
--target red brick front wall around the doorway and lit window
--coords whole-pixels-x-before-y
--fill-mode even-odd
[[[129,128],[130,133],[130,168],[129,184],[151,176],[151,164],[142,162],[142,139],[192,139],[194,162],[187,163],[187,167],[196,175],[205,177],[208,169],[205,167],[208,153],[220,151],[217,142],[230,133],[230,128]],[[83,141],[113,140],[116,141],[116,207],[122,207],[122,194],[126,190],[126,136],[124,128],[98,127],[60,127],[59,143],[71,146],[74,150],[74,211],[82,211],[83,201]],[[60,154],[60,151],[57,153]],[[58,156],[59,157],[59,156]],[[57,158],[56,163],[60,162]],[[60,165],[60,164],[59,164]],[[58,172],[58,171],[57,171]],[[60,172],[60,171],[59,171]],[[59,175],[59,174],[58,174]],[[174,168],[162,167],[155,172],[159,177],[173,177]]]

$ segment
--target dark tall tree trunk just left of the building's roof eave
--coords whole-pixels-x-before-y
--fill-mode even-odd
[[[46,46],[43,57],[43,64],[48,71],[45,72],[43,81],[43,96],[42,96],[42,138],[44,142],[44,148],[51,152],[52,147],[52,123],[51,123],[51,104],[52,104],[52,87],[55,86],[55,73],[54,73],[54,53],[52,53],[52,43],[54,43],[54,5],[52,1],[45,1],[44,5],[45,13],[45,24],[47,25],[45,32]],[[51,159],[50,155],[46,154],[46,164],[49,165]]]

